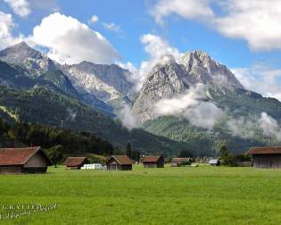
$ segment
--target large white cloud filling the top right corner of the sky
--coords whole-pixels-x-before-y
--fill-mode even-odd
[[[216,4],[217,13],[211,4]],[[206,23],[224,36],[242,38],[255,51],[281,49],[279,0],[159,0],[153,9],[159,23],[171,14]]]

